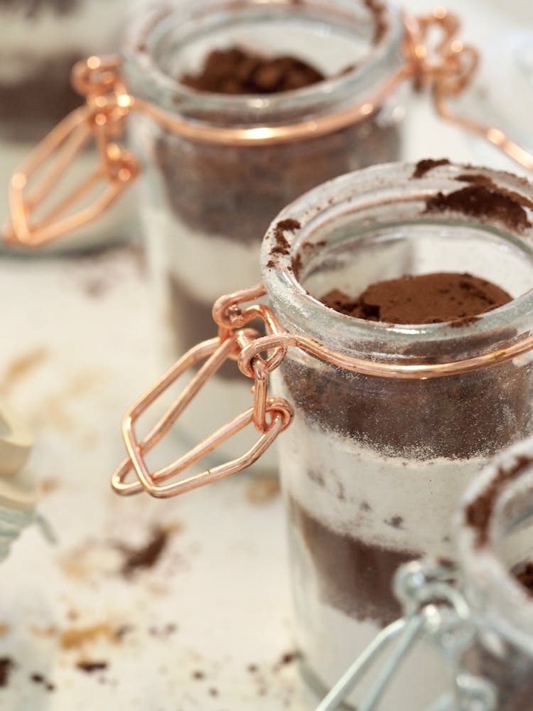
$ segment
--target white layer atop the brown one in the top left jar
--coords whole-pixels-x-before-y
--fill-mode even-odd
[[[45,6],[33,18],[21,9],[4,9],[0,26],[9,31],[2,34],[0,82],[16,84],[31,76],[46,57],[117,52],[127,7],[122,0],[90,0],[78,3],[68,14]]]

